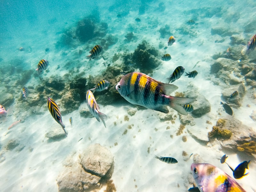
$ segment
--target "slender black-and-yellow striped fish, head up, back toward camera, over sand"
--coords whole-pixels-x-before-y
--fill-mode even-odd
[[[48,97],[47,105],[52,117],[55,119],[55,121],[57,121],[58,124],[61,125],[62,129],[66,134],[66,137],[68,137],[68,133],[65,130],[65,125],[62,123],[62,117],[57,103],[55,103],[55,101],[52,98]]]

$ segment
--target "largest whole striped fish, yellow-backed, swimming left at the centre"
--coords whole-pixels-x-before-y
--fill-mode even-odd
[[[188,115],[185,104],[196,101],[192,98],[169,96],[178,89],[176,85],[164,84],[140,72],[128,73],[116,85],[116,90],[130,103],[168,113],[169,106],[182,115]]]

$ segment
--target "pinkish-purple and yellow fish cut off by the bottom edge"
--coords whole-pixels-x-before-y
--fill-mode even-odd
[[[212,164],[192,164],[190,169],[201,192],[246,192],[227,173]]]

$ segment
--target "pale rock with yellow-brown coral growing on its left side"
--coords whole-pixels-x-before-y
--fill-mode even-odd
[[[256,132],[251,127],[242,124],[241,121],[235,119],[233,116],[227,116],[226,118],[219,119],[216,126],[213,126],[213,129],[214,127],[221,130],[226,130],[225,135],[215,135],[216,139],[220,142],[221,148],[223,149],[238,152],[237,146],[248,143],[252,140],[256,141]]]

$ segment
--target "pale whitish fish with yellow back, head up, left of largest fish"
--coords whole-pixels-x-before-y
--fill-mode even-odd
[[[106,127],[104,118],[107,118],[107,116],[99,111],[100,107],[97,104],[94,95],[92,94],[91,90],[88,90],[86,93],[86,102],[87,106],[91,112],[91,114],[100,122],[103,122],[104,126]]]

